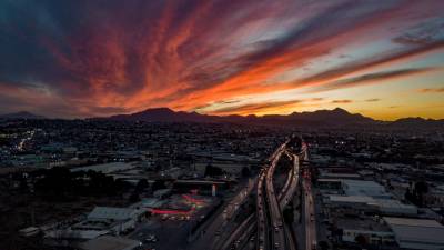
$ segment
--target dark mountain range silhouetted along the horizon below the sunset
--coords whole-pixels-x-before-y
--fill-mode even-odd
[[[44,119],[30,112],[17,112],[0,116],[0,119]],[[431,129],[444,130],[444,119],[433,120],[423,118],[403,118],[395,121],[381,121],[360,113],[336,108],[333,110],[317,110],[313,112],[293,112],[291,114],[268,114],[258,117],[254,114],[242,116],[210,116],[196,112],[173,111],[169,108],[147,109],[130,114],[117,114],[111,117],[90,118],[91,120],[117,120],[117,121],[148,121],[148,122],[231,122],[243,124],[265,126],[293,126],[309,128],[341,128],[341,127],[386,127],[395,129]]]

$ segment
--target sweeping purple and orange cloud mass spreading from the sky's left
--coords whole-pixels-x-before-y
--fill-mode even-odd
[[[286,70],[307,68],[355,39],[357,30],[400,26],[406,10],[418,20],[436,16],[426,4],[397,1],[0,1],[2,108],[29,107],[63,117],[159,106],[192,110],[331,81],[443,48],[436,38],[423,39],[436,30],[425,22],[392,40],[405,43],[401,50],[316,69],[315,76],[292,84],[268,82]],[[427,30],[427,36],[416,30]],[[349,52],[339,57],[349,59]],[[325,88],[384,77],[395,74],[362,76]]]

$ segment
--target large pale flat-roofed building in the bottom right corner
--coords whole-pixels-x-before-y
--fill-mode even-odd
[[[401,249],[444,249],[444,226],[435,220],[384,217]]]

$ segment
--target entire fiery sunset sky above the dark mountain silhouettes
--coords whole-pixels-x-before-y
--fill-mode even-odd
[[[443,0],[1,0],[0,113],[444,118]]]

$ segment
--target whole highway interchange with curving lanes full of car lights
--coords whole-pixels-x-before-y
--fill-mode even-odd
[[[296,147],[294,147],[297,144]],[[275,172],[279,161],[283,156],[292,160],[292,168],[287,172],[282,188],[275,183]],[[249,189],[246,194],[255,191],[255,212],[248,216],[242,222],[234,224],[232,230],[216,231],[216,239],[211,244],[212,250],[258,249],[258,250],[296,250],[301,241],[306,250],[316,249],[316,229],[314,216],[314,199],[311,193],[311,181],[309,172],[307,144],[301,139],[289,139],[282,143],[268,159],[261,169],[254,189]],[[301,173],[303,178],[300,178]],[[283,181],[282,181],[283,182]],[[278,191],[279,190],[279,191]],[[303,193],[304,236],[296,237],[291,223],[285,223],[284,209],[294,199],[296,193]],[[305,238],[305,239],[299,239]]]

